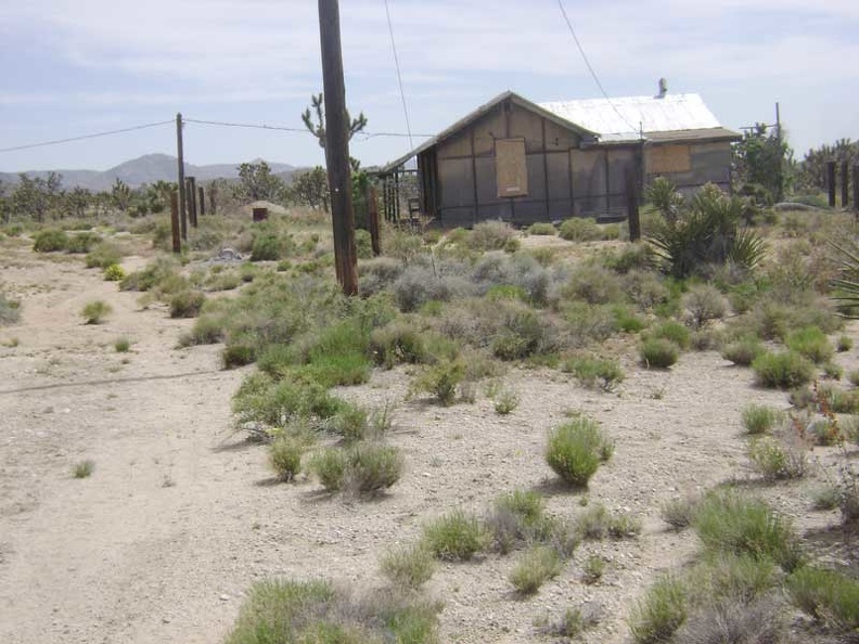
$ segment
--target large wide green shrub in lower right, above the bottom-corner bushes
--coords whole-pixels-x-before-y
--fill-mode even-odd
[[[760,500],[711,492],[702,500],[692,525],[708,550],[768,558],[786,571],[803,562],[791,521]]]

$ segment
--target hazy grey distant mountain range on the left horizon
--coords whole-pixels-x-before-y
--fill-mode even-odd
[[[254,159],[248,163],[259,163],[261,159]],[[268,162],[267,162],[268,163]],[[215,164],[209,166],[194,166],[185,164],[185,177],[196,177],[200,181],[210,181],[211,179],[238,179],[239,166],[241,164]],[[289,164],[268,163],[271,172],[284,179],[297,169]],[[177,158],[169,154],[146,154],[140,158],[128,160],[118,166],[100,172],[98,170],[37,170],[27,171],[25,175],[30,178],[47,178],[51,171],[63,176],[63,188],[70,189],[79,185],[88,190],[100,192],[110,190],[116,179],[137,188],[143,183],[154,183],[156,181],[176,181]],[[0,181],[14,184],[18,182],[16,172],[0,172]]]

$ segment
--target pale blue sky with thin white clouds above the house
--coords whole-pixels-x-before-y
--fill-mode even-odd
[[[859,138],[857,0],[560,0],[610,96],[703,96],[726,127],[773,123],[797,157]],[[397,158],[497,94],[600,98],[559,0],[341,0],[346,99],[364,166]],[[312,0],[27,0],[0,4],[0,171],[105,170],[176,154],[175,118],[302,128],[321,91]],[[412,138],[409,139],[408,131]],[[189,123],[192,164],[320,165],[306,132]]]

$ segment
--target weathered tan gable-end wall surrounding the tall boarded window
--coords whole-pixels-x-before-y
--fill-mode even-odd
[[[527,194],[498,195],[496,140],[525,143]],[[633,147],[579,150],[580,137],[552,120],[505,102],[421,155],[436,169],[423,181],[423,206],[444,226],[501,219],[515,226],[573,216],[624,212],[625,176]]]

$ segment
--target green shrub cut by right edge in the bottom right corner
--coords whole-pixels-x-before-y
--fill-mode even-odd
[[[834,570],[806,566],[787,578],[793,603],[815,619],[859,628],[859,581]]]

